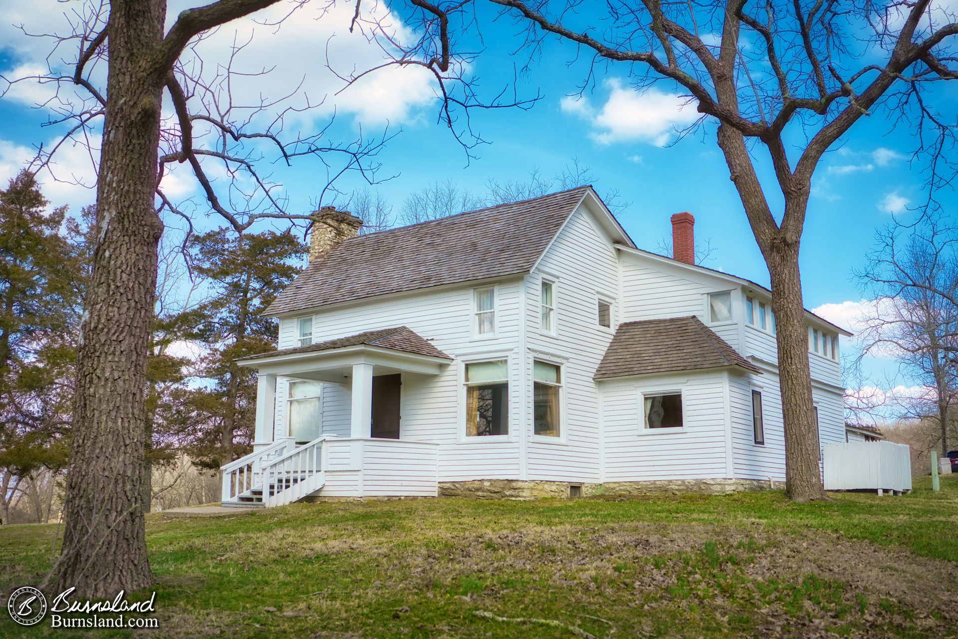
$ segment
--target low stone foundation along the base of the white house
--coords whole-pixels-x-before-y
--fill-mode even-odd
[[[667,479],[646,482],[519,481],[516,479],[475,479],[466,482],[440,482],[441,497],[472,499],[541,499],[570,497],[570,488],[580,487],[578,496],[637,496],[656,494],[730,494],[785,488],[784,482],[755,479]]]

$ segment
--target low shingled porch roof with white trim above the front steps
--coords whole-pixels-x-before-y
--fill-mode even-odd
[[[354,364],[372,364],[376,375],[410,372],[438,374],[452,361],[408,327],[360,332],[309,346],[238,357],[241,366],[261,374],[343,383]]]

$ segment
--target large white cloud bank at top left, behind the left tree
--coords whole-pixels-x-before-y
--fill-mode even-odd
[[[90,11],[92,7],[70,3],[64,8],[63,3],[57,0],[15,4],[15,9],[11,7],[7,11],[5,8],[3,19],[0,20],[0,42],[18,60],[16,67],[4,74],[11,80],[46,72],[46,57],[52,45],[52,40],[48,38],[23,34],[18,25],[24,25],[31,34],[70,34],[71,27],[64,11]],[[171,0],[167,11],[167,27],[171,26],[180,11],[196,4],[195,0]],[[373,37],[369,29],[373,23],[382,25],[396,41],[415,41],[417,34],[384,4],[362,3],[361,22],[354,33],[350,33],[354,2],[311,2],[290,13],[298,4],[296,0],[285,0],[206,34],[205,39],[196,46],[196,51],[203,58],[207,78],[229,62],[234,45],[242,44],[252,36],[234,61],[234,71],[249,74],[233,78],[230,88],[235,103],[249,106],[271,102],[295,90],[297,86],[300,86],[300,90],[299,98],[294,102],[296,105],[303,105],[304,96],[308,96],[309,103],[322,103],[322,106],[308,112],[288,114],[287,130],[289,125],[294,125],[312,132],[317,126],[325,126],[333,111],[340,116],[353,115],[364,126],[382,126],[386,122],[399,125],[415,120],[423,106],[435,102],[434,79],[422,67],[384,69],[345,89],[345,82],[327,67],[327,55],[332,69],[341,75],[382,64],[385,61],[383,47],[391,45],[384,42],[381,36],[378,40]],[[287,14],[289,17],[281,25],[270,26],[270,23],[280,21]],[[366,33],[363,33],[364,29]],[[61,65],[61,59],[76,59],[76,52],[69,48],[71,43],[63,45],[55,56],[50,57],[52,64]],[[194,60],[189,50],[181,59],[186,68],[190,68]],[[61,72],[66,69],[56,70]],[[102,71],[98,68],[98,73]],[[262,71],[268,71],[265,77],[258,75]],[[3,88],[5,83],[0,80],[0,91]],[[61,99],[76,101],[73,95],[76,87],[64,84],[60,88]],[[334,95],[340,90],[342,92],[339,95]],[[27,81],[14,84],[6,99],[34,105],[45,102],[55,91],[55,83]],[[284,107],[272,109],[274,115],[267,115],[264,119],[271,121],[275,112]],[[243,119],[241,112],[237,116]]]

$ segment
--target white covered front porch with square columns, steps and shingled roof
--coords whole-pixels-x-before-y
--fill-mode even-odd
[[[259,371],[256,430],[253,453],[222,468],[223,505],[436,494],[439,445],[401,439],[401,379],[439,375],[452,359],[420,335],[406,327],[370,331],[238,361]],[[277,424],[280,377],[290,408]],[[348,432],[324,432],[322,384],[349,393]]]

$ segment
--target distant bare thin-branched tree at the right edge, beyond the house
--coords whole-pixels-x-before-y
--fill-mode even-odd
[[[928,389],[896,403],[902,418],[938,423],[944,454],[958,411],[958,228],[930,213],[896,220],[858,278],[875,300],[858,331],[860,356],[894,357],[902,377]]]

